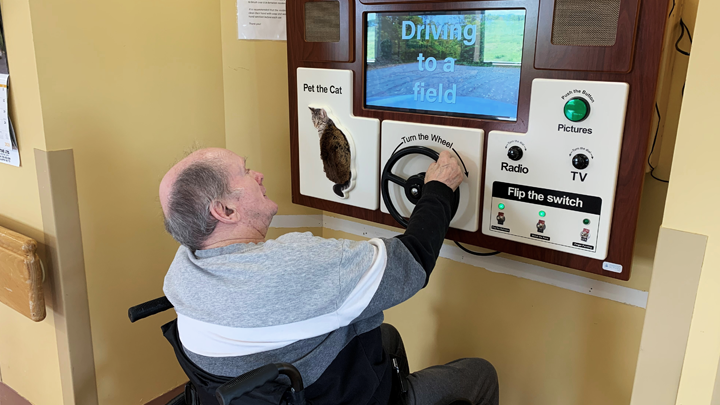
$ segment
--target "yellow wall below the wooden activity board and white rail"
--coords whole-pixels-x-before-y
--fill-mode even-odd
[[[482,357],[498,370],[504,405],[608,405],[630,401],[644,315],[441,258],[428,286],[386,311],[386,322],[402,334],[411,371]]]

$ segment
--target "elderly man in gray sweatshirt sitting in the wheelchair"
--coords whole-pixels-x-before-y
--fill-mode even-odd
[[[427,284],[461,181],[457,161],[441,153],[408,229],[395,238],[355,242],[307,232],[265,240],[278,207],[246,159],[204,149],[175,165],[160,184],[160,202],[168,232],[182,244],[164,287],[182,343],[168,339],[203,404],[215,403],[214,389],[230,377],[276,362],[300,370],[316,405],[497,404],[488,362],[462,359],[408,375],[400,336],[382,323],[383,310]],[[279,403],[284,383],[253,395]]]

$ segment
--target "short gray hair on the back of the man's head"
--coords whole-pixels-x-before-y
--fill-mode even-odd
[[[210,213],[213,201],[230,194],[224,166],[218,162],[195,162],[175,180],[165,215],[165,229],[190,250],[199,250],[215,231],[218,220]]]

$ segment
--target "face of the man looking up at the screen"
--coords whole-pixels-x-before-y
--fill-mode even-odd
[[[260,220],[269,225],[278,206],[265,195],[263,174],[249,169],[245,158],[235,154],[229,158],[228,171],[231,198],[238,204],[238,211],[248,221]]]

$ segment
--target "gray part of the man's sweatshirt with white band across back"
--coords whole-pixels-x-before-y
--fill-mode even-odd
[[[289,362],[307,386],[426,277],[399,239],[355,242],[306,232],[195,252],[181,246],[164,291],[184,350],[200,368],[235,377]]]

